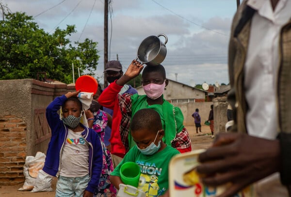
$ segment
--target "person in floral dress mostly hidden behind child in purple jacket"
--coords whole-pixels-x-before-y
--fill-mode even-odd
[[[100,109],[101,105],[97,100],[101,93],[102,88],[100,84],[98,84],[97,92],[93,95],[92,104],[89,110],[85,111],[88,120],[88,127],[93,128],[98,134],[103,151],[102,170],[94,197],[116,197],[116,188],[110,182],[110,173],[113,171],[113,163],[110,151],[104,143],[105,127],[112,126],[112,116]]]

